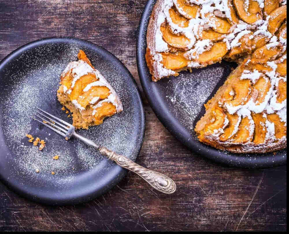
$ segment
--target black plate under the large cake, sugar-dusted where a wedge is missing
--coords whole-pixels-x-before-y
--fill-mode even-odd
[[[216,162],[242,168],[263,168],[286,163],[286,150],[266,154],[233,154],[202,144],[194,133],[196,122],[205,113],[206,103],[224,83],[234,63],[222,62],[178,77],[151,81],[145,61],[149,16],[155,4],[149,0],[142,14],[137,42],[138,74],[146,97],[162,124],[192,151]]]

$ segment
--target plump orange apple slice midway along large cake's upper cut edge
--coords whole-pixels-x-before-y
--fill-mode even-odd
[[[208,51],[199,55],[197,62],[209,63],[220,60],[227,53],[227,45],[225,42],[217,42]]]

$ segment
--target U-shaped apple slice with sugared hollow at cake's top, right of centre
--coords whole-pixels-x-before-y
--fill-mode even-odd
[[[233,0],[233,3],[234,3],[234,6],[236,8],[238,16],[246,23],[253,24],[257,20],[262,19],[262,14],[260,14],[259,9],[256,8],[254,1],[250,0],[250,2],[251,2],[251,4],[246,5],[245,0]],[[252,3],[253,3],[253,5],[252,5]],[[258,5],[258,7],[259,7],[259,5]],[[251,12],[255,12],[255,13],[249,12],[249,9]]]

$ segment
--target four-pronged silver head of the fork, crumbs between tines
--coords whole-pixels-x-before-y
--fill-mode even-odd
[[[40,108],[38,108],[38,107],[36,107],[36,108],[37,108],[40,112],[36,111],[36,113],[39,114],[39,115],[35,114],[35,116],[36,116],[37,118],[41,119],[41,120],[39,120],[39,119],[37,119],[36,117],[33,117],[33,116],[31,116],[31,117],[32,117],[34,120],[42,123],[42,124],[45,125],[46,127],[49,127],[49,128],[52,129],[53,131],[59,133],[60,135],[62,135],[62,136],[65,137],[66,134],[67,134],[68,129],[70,129],[71,127],[73,127],[73,125],[71,125],[70,123],[63,121],[62,119],[57,118],[56,116],[53,116],[53,115],[45,112],[44,110],[42,110],[42,109],[40,109]],[[46,115],[45,115],[44,113],[45,113]],[[48,116],[47,116],[47,115],[48,115]],[[50,117],[49,117],[49,116],[50,116]],[[57,120],[58,120],[59,122],[58,122]],[[63,124],[65,124],[66,126],[63,125],[63,124],[61,124],[60,122],[63,123]],[[58,130],[58,129],[59,129],[59,130]]]

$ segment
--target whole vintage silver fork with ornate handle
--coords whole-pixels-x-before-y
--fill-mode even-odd
[[[107,148],[105,148],[99,144],[96,144],[92,140],[89,140],[89,139],[77,134],[75,132],[75,127],[73,127],[73,125],[71,125],[70,123],[63,121],[62,119],[57,118],[57,117],[45,112],[44,110],[42,110],[38,107],[37,107],[37,109],[40,112],[38,112],[38,111],[36,111],[36,112],[40,116],[37,114],[35,114],[35,116],[37,116],[37,118],[39,118],[41,120],[36,119],[35,117],[32,117],[32,118],[34,120],[42,123],[43,125],[49,127],[53,131],[59,133],[66,140],[69,140],[72,136],[74,136],[74,137],[78,138],[79,140],[85,142],[86,144],[93,146],[94,148],[99,150],[99,152],[102,155],[105,155],[108,159],[115,161],[116,164],[118,164],[119,166],[135,172],[140,177],[142,177],[145,181],[147,181],[156,190],[163,192],[163,193],[167,193],[167,194],[175,192],[176,184],[171,178],[167,177],[166,175],[164,175],[162,173],[155,172],[153,170],[149,170],[147,168],[144,168],[144,167],[134,163],[133,161],[131,161],[127,157],[120,155],[120,154],[117,154],[114,151],[111,151],[111,150],[109,150],[109,149],[107,149]]]

